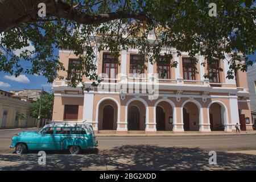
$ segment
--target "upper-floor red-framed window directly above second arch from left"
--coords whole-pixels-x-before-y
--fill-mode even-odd
[[[135,59],[138,57],[138,59]],[[141,59],[140,59],[141,57]],[[139,68],[138,65],[141,65],[142,68]],[[144,57],[142,55],[130,55],[130,73],[144,73]],[[135,72],[134,72],[135,68]]]

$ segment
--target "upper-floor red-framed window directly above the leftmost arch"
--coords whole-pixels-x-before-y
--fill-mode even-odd
[[[108,78],[113,78],[111,75],[111,69],[114,68],[114,78],[117,78],[118,74],[118,60],[115,59],[110,53],[103,53],[103,67],[102,73],[109,72]]]

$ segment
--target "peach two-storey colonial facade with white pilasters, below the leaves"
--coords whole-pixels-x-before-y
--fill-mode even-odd
[[[122,50],[121,64],[108,51],[97,52],[98,75],[104,81],[87,92],[81,90],[81,83],[71,88],[65,79],[56,78],[52,120],[85,121],[96,132],[231,132],[236,123],[240,123],[241,130],[252,130],[245,72],[238,71],[236,78],[229,80],[228,60],[216,60],[209,65],[198,55],[199,73],[192,76],[188,53],[177,56],[175,49],[172,52],[178,62],[176,68],[141,61],[137,49]],[[78,64],[72,51],[60,51],[59,56],[65,68]],[[134,64],[145,64],[147,69],[141,71]],[[219,65],[223,72],[216,69]],[[203,77],[207,72],[217,76],[207,80]],[[67,72],[59,75],[68,76]],[[92,83],[86,77],[82,81],[86,85]]]

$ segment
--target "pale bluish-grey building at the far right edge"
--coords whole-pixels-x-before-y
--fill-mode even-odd
[[[253,119],[253,124],[256,125],[256,63],[248,68],[247,78],[251,101],[251,117]]]

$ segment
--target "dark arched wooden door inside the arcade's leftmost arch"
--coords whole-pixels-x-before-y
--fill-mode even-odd
[[[103,108],[102,117],[102,130],[114,129],[114,107],[112,105],[106,105]]]

